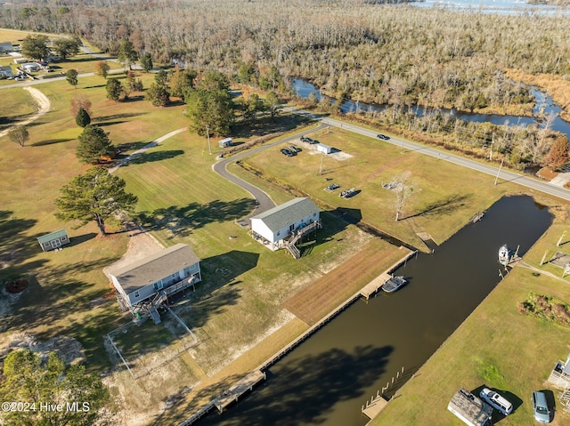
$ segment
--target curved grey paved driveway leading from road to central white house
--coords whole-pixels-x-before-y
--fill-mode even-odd
[[[326,125],[319,125],[319,126],[315,127],[312,130],[312,132],[319,130],[319,129],[322,129],[324,127],[326,127]],[[251,216],[255,216],[256,214],[259,214],[259,213],[264,213],[265,211],[273,208],[275,206],[275,203],[273,202],[271,197],[269,197],[269,195],[267,195],[263,190],[253,186],[251,183],[248,183],[247,181],[244,181],[244,180],[240,179],[239,177],[237,177],[236,175],[228,172],[227,171],[227,165],[229,165],[231,163],[235,163],[236,161],[240,160],[243,157],[251,156],[251,155],[253,155],[256,152],[259,152],[261,150],[273,148],[276,145],[280,145],[283,142],[289,142],[289,141],[297,140],[298,138],[300,138],[305,133],[308,133],[308,132],[305,131],[305,132],[295,133],[295,134],[288,136],[285,139],[281,139],[281,140],[275,141],[273,143],[268,143],[268,144],[263,145],[263,146],[256,148],[256,149],[244,151],[244,152],[237,154],[233,157],[224,158],[223,160],[218,161],[215,165],[212,166],[212,169],[214,170],[214,172],[218,173],[220,176],[224,177],[228,181],[231,181],[231,182],[235,183],[236,185],[238,185],[239,187],[247,190],[249,194],[251,194],[254,198],[256,198],[256,203],[257,203],[256,210],[253,213],[251,213],[248,216],[248,218],[244,218],[243,220],[241,220],[242,225],[249,225],[249,218]]]

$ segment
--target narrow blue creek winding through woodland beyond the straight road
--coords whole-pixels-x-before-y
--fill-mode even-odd
[[[314,86],[314,84],[311,84],[301,78],[292,79],[291,89],[297,93],[297,96],[303,99],[308,98],[311,94],[314,94],[316,99],[319,101],[324,97],[324,95],[316,86]],[[546,115],[554,114],[555,118],[552,122],[551,129],[566,134],[568,141],[570,141],[570,123],[564,121],[559,116],[562,109],[560,109],[560,107],[554,103],[548,94],[541,92],[536,88],[531,88],[531,92],[536,99],[533,114],[536,115],[541,110]],[[334,102],[334,100],[331,101]],[[430,111],[430,109],[421,107],[419,105],[411,108],[418,116],[422,116]],[[343,100],[340,104],[340,110],[344,114],[357,111],[380,112],[385,109],[387,109],[387,106],[385,105],[368,104],[364,102],[356,102],[354,100]],[[474,121],[477,123],[488,122],[492,123],[493,125],[541,125],[536,121],[534,117],[504,116],[501,114],[476,114],[458,111],[457,109],[440,109],[440,111],[444,114],[452,114],[452,116],[458,117],[464,121]]]

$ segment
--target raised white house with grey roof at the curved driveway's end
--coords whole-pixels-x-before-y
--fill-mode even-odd
[[[321,228],[320,216],[321,210],[312,200],[298,197],[252,216],[251,233],[273,251],[289,248],[298,238]]]

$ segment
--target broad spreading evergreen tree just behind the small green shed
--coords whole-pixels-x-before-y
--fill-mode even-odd
[[[138,200],[125,191],[125,186],[125,181],[107,169],[91,167],[61,188],[61,197],[55,200],[59,209],[55,216],[62,221],[79,221],[79,226],[95,221],[105,236],[105,222],[132,212]]]

